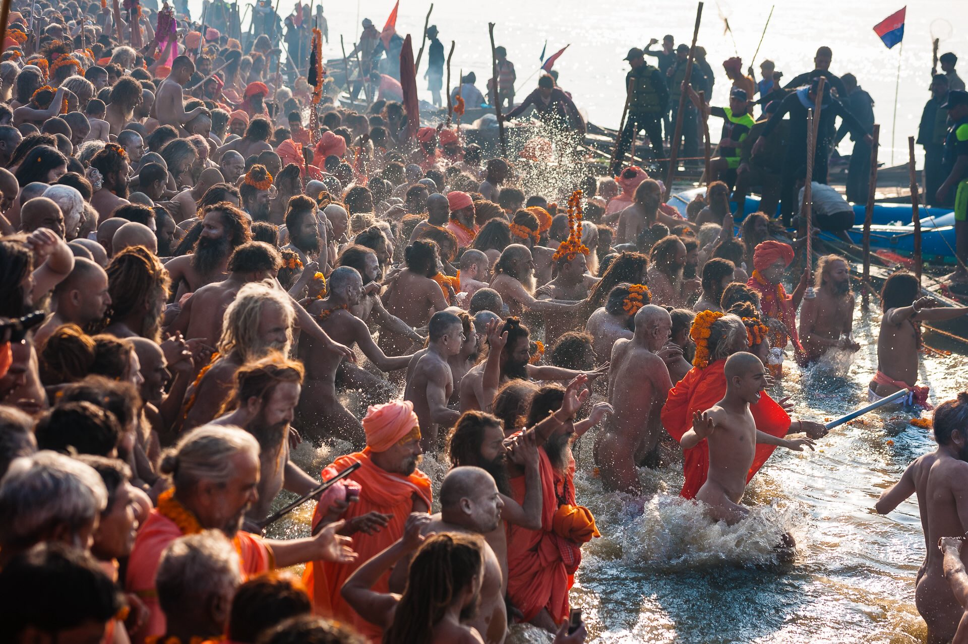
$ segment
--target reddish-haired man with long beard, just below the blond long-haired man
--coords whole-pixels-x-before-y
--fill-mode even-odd
[[[256,530],[281,489],[302,495],[318,485],[289,460],[289,424],[302,392],[303,366],[272,353],[242,366],[235,382],[235,411],[212,424],[241,427],[258,441],[258,501],[246,512]]]

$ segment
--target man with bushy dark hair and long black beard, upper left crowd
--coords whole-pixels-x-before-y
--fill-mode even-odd
[[[194,293],[205,284],[226,278],[228,258],[252,237],[245,213],[227,201],[206,206],[201,225],[192,253],[166,264],[175,301],[185,293]]]

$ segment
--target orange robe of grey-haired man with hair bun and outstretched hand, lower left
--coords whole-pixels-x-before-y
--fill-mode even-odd
[[[164,635],[166,629],[165,613],[158,604],[155,592],[155,572],[162,552],[168,543],[182,536],[175,522],[157,510],[152,510],[148,520],[137,531],[135,547],[128,559],[128,572],[125,576],[125,590],[135,593],[148,608],[150,615],[141,627],[140,639],[149,635]],[[240,555],[240,565],[244,577],[256,576],[260,572],[271,571],[275,567],[272,551],[260,537],[239,531],[232,544]]]

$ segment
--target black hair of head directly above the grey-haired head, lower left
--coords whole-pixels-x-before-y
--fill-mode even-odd
[[[68,454],[108,456],[117,447],[121,426],[114,415],[90,402],[58,403],[34,430],[37,447]]]

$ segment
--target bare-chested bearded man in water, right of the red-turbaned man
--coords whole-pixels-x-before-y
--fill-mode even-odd
[[[804,299],[800,310],[800,341],[807,360],[818,360],[830,349],[858,351],[861,345],[851,337],[854,294],[847,260],[824,255],[817,262],[814,280],[816,297]]]

